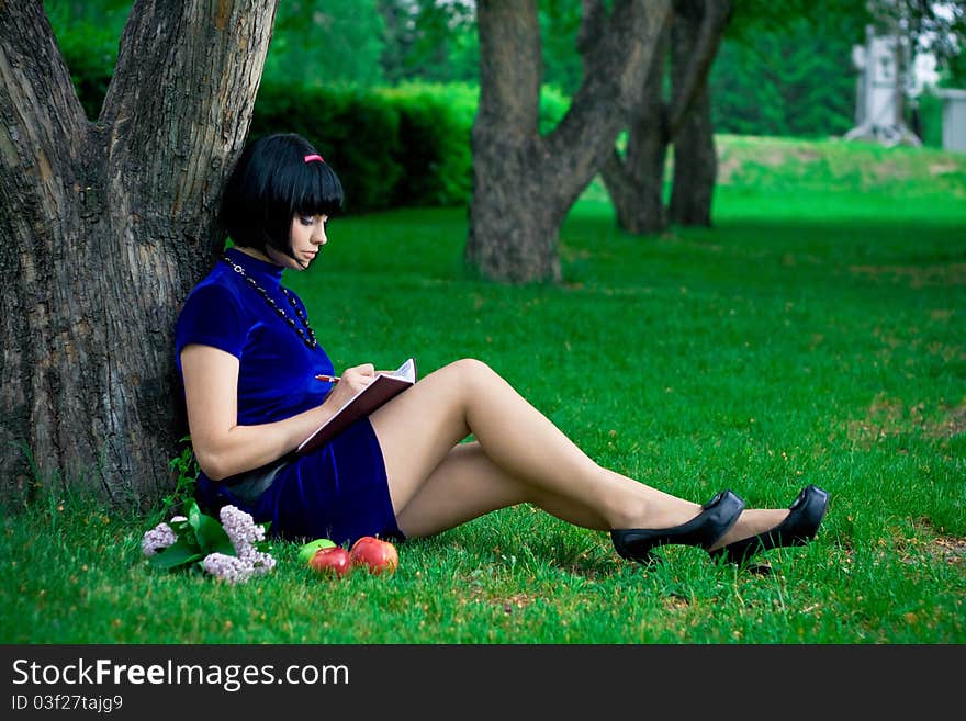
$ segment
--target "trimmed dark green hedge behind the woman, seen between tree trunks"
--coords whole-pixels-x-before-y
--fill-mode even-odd
[[[85,26],[87,27],[87,26]],[[100,113],[116,49],[108,33],[68,34],[61,46],[81,103]],[[263,80],[249,137],[291,132],[308,138],[346,191],[346,212],[470,202],[470,135],[479,88],[469,83],[403,83],[392,88],[292,86]],[[570,99],[544,87],[540,132],[566,113]]]

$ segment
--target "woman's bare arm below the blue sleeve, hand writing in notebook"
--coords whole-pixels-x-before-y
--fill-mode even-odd
[[[198,464],[213,481],[250,471],[295,449],[359,388],[372,381],[371,364],[346,369],[325,402],[297,416],[258,426],[238,425],[238,359],[192,343],[181,351],[188,427]]]

